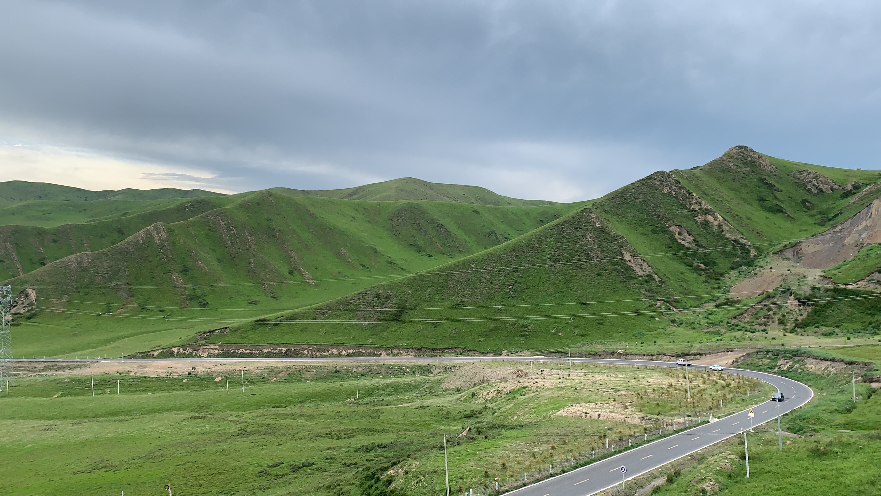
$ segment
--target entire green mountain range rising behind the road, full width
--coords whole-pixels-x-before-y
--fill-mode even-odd
[[[846,247],[853,263],[830,263],[829,274],[852,282],[877,269],[863,245],[881,241],[870,207],[879,179],[737,146],[578,204],[411,178],[330,191],[29,200],[34,208],[4,218],[30,215],[31,225],[0,227],[0,264],[6,284],[35,291],[15,319],[17,349],[32,355],[206,344],[706,346],[758,330],[848,330],[826,304],[811,314],[820,294],[811,288],[829,279],[802,261],[851,219],[848,233],[862,229],[864,241]],[[82,208],[88,218],[37,225],[40,208],[56,218]],[[874,311],[835,294],[823,296],[833,307]],[[873,319],[854,322],[873,332]]]

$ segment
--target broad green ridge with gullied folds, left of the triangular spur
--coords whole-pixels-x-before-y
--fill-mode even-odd
[[[39,318],[25,322],[26,333],[21,334],[26,337],[19,338],[18,349],[47,350],[51,345],[53,354],[59,354],[123,338],[164,344],[165,331],[189,329],[174,341],[216,325],[215,319],[234,321],[265,314],[266,309],[333,300],[477,253],[577,206],[361,202],[259,191],[12,278],[9,283],[17,288],[35,288],[41,299],[37,308],[43,309]],[[7,257],[4,263],[6,270],[16,270]],[[90,301],[96,304],[84,303]],[[50,307],[65,313],[45,311]],[[96,313],[132,320],[95,321]],[[59,332],[76,337],[61,338]],[[144,337],[152,334],[160,335],[158,341]]]

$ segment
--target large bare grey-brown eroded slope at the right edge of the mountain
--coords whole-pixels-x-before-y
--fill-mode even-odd
[[[853,258],[863,246],[876,243],[881,243],[881,198],[825,233],[783,250],[781,255],[810,269],[828,269]]]

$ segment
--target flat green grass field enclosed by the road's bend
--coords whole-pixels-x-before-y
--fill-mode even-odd
[[[436,494],[444,433],[453,489],[478,488],[600,450],[606,437],[681,426],[685,407],[684,377],[667,369],[246,366],[244,393],[234,363],[31,370],[0,397],[0,466],[17,474],[0,492],[138,495],[171,483],[181,495],[349,495],[366,493],[364,477],[380,470],[392,490]],[[761,387],[696,372],[689,415],[737,411]],[[573,404],[643,419],[552,415]]]

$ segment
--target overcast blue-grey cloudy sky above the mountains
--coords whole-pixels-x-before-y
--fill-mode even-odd
[[[881,168],[881,3],[0,3],[0,181],[569,202],[745,144]]]

